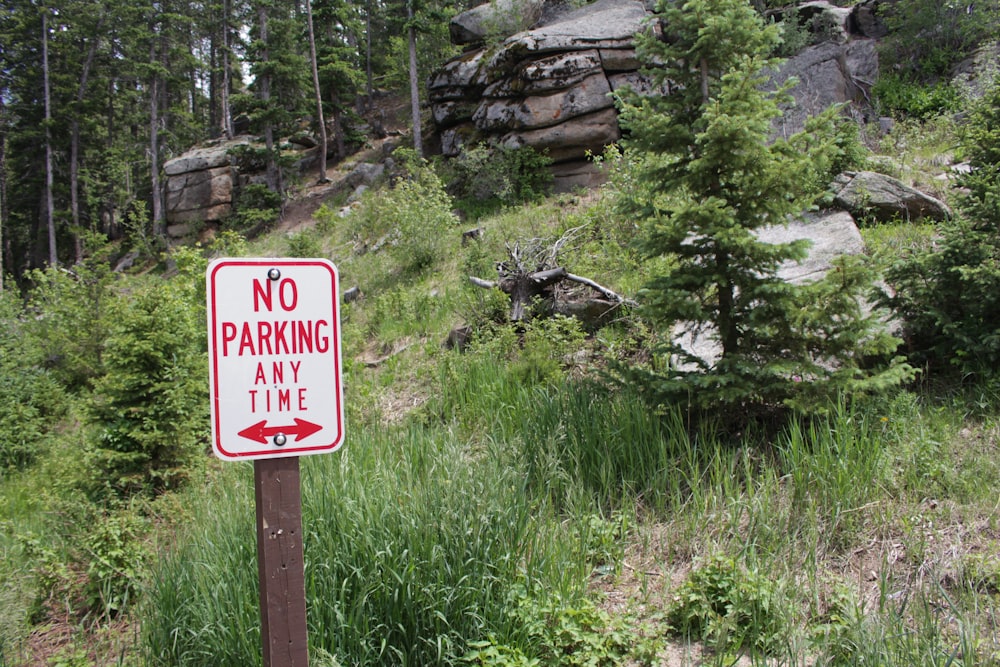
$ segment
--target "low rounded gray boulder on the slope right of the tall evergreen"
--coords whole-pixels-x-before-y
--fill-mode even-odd
[[[873,171],[844,172],[831,189],[834,204],[856,217],[888,222],[896,218],[947,220],[952,215],[941,200]]]

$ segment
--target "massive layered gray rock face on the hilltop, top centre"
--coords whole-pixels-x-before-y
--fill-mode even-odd
[[[481,48],[450,61],[429,85],[442,152],[488,140],[531,146],[564,165],[554,170],[557,189],[595,182],[599,172],[577,163],[621,138],[611,92],[643,85],[633,38],[649,16],[637,0],[599,0],[513,35],[489,56]]]

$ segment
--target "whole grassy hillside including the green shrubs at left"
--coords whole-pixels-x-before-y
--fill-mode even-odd
[[[893,141],[900,175],[937,182],[921,150],[950,134]],[[260,664],[252,470],[205,453],[219,254],[329,257],[363,294],[343,306],[346,444],[302,462],[315,664],[1000,663],[994,385],[925,378],[731,432],[608,381],[647,354],[635,309],[515,326],[469,283],[508,245],[562,239],[559,264],[636,295],[666,267],[616,212],[627,175],[460,224],[423,173],[293,234],[38,276],[33,310],[5,314],[24,333],[4,363],[41,370],[5,366],[35,432],[0,481],[0,664]],[[864,234],[888,262],[934,229]],[[448,349],[460,324],[468,345]],[[176,348],[135,355],[132,377],[146,343]],[[150,406],[190,419],[128,421]]]

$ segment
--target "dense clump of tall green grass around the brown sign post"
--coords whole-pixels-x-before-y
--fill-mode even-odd
[[[582,593],[579,550],[560,525],[513,470],[468,456],[444,431],[366,429],[338,454],[304,460],[302,488],[316,655],[455,664],[470,640],[517,637],[504,611],[514,587]],[[259,664],[249,497],[245,483],[219,485],[162,560],[144,622],[153,664]]]

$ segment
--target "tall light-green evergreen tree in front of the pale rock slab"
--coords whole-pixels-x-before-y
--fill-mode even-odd
[[[901,381],[903,366],[863,369],[895,341],[861,311],[871,276],[860,264],[794,286],[777,271],[805,255],[805,242],[756,234],[809,207],[836,150],[830,115],[808,137],[771,141],[785,97],[763,89],[775,28],[745,0],[661,2],[658,16],[663,38],[645,35],[639,53],[662,63],[649,72],[669,94],[629,95],[623,113],[644,184],[629,214],[644,221],[646,255],[671,266],[643,292],[666,361],[632,377],[659,400],[748,410],[808,408]],[[684,349],[673,340],[680,326],[709,335],[717,353]]]

